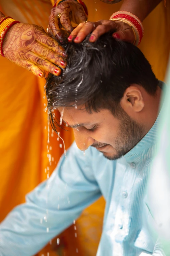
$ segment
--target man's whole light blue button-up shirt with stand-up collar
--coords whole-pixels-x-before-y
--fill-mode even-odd
[[[154,219],[145,193],[159,119],[117,161],[92,147],[84,156],[73,143],[51,177],[1,223],[0,256],[34,255],[101,195],[106,209],[97,256],[164,255],[150,229]]]

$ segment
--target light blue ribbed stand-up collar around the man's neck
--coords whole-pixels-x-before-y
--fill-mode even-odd
[[[162,82],[163,85],[163,82]],[[164,86],[165,87],[165,86]],[[149,132],[133,147],[127,154],[124,155],[126,160],[132,160],[132,158],[138,156],[143,150],[146,150],[156,144],[158,139],[157,129],[160,124],[161,116],[163,113],[164,105],[162,106],[159,115],[149,130]]]

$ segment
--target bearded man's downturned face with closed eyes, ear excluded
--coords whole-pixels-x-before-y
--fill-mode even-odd
[[[59,108],[61,111],[63,108]],[[88,113],[84,107],[64,108],[63,121],[73,127],[75,141],[80,150],[95,147],[110,160],[115,160],[131,150],[145,135],[141,125],[125,111],[116,118],[109,110]]]

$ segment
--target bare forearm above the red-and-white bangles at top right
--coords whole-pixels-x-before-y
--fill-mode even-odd
[[[129,11],[143,21],[162,0],[124,0],[120,10]]]

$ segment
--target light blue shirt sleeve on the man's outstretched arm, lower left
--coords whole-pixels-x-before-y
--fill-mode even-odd
[[[70,226],[101,192],[86,156],[74,143],[50,178],[26,196],[0,225],[0,256],[31,256]]]

